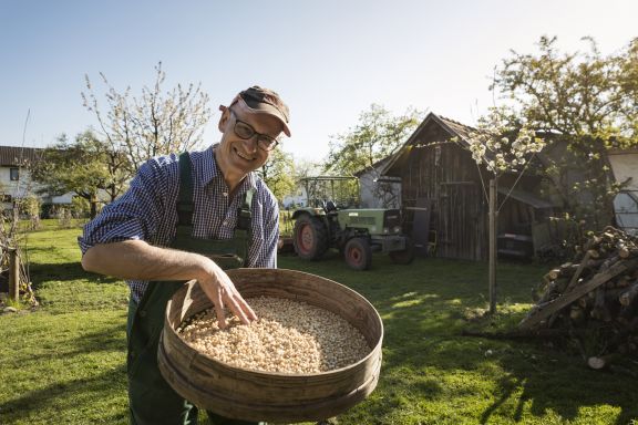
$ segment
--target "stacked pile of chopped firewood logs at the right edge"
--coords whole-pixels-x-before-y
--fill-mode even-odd
[[[521,331],[566,331],[593,369],[638,357],[638,238],[613,227],[593,234],[534,296]]]

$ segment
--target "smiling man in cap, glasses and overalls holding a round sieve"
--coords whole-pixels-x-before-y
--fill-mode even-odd
[[[197,410],[157,369],[167,301],[196,279],[215,304],[244,323],[257,317],[224,272],[277,267],[277,199],[253,172],[288,128],[288,106],[268,89],[249,87],[219,106],[222,141],[204,152],[150,159],[130,189],[79,238],[84,270],[127,279],[127,374],[133,424],[194,424]],[[214,424],[247,424],[209,413]]]

